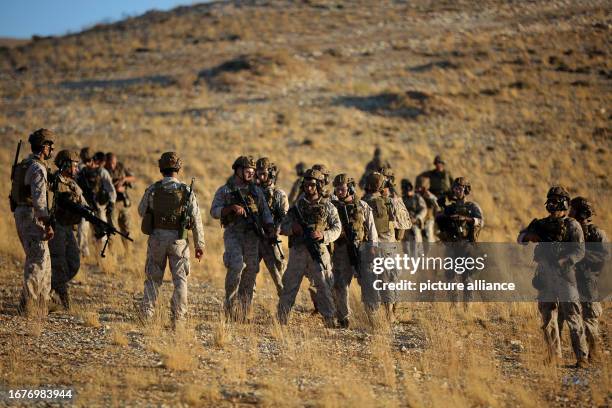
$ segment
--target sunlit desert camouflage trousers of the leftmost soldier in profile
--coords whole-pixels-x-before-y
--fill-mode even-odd
[[[19,206],[14,216],[17,234],[26,256],[23,264],[22,302],[47,302],[51,293],[51,255],[47,241],[43,241],[44,225],[34,218],[32,207]]]

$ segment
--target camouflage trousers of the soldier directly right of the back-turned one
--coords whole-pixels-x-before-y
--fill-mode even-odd
[[[233,319],[248,316],[259,272],[259,238],[252,229],[226,228],[223,232],[225,252],[224,309]]]

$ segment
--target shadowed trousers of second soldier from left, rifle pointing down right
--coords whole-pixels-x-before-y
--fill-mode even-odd
[[[66,293],[68,282],[79,271],[81,257],[72,225],[55,226],[55,236],[49,241],[51,252],[51,288]]]

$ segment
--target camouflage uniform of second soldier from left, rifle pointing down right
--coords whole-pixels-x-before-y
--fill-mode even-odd
[[[61,153],[61,152],[60,152]],[[56,175],[57,187],[55,236],[49,241],[51,251],[51,287],[57,293],[65,308],[70,307],[68,282],[75,277],[81,266],[79,246],[75,237],[76,226],[81,216],[73,214],[64,200],[86,205],[81,188],[72,178]]]

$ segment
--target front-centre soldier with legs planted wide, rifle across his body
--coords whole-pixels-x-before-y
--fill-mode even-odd
[[[342,225],[336,207],[323,195],[324,176],[309,169],[302,181],[303,194],[289,209],[281,234],[289,236],[289,264],[283,275],[278,320],[287,324],[302,278],[316,288],[316,306],[327,327],[334,327],[333,276],[328,245],[340,236]]]

